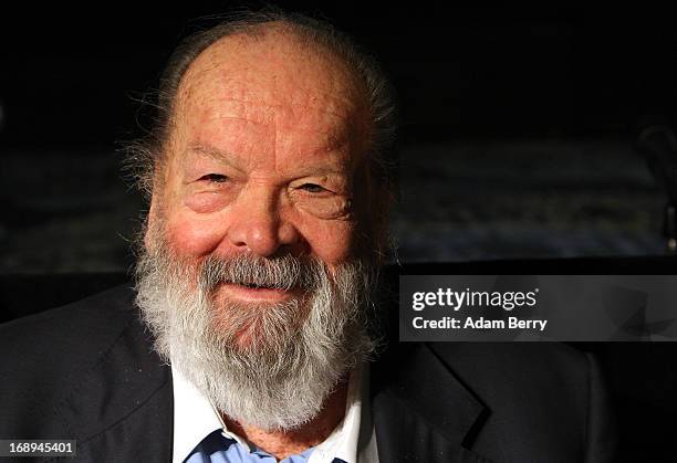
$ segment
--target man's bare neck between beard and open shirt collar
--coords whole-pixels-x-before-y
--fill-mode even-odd
[[[264,431],[256,427],[242,424],[228,415],[223,415],[223,422],[228,430],[244,438],[280,461],[322,443],[343,420],[346,399],[347,381],[343,381],[329,396],[317,417],[299,428],[288,431]]]

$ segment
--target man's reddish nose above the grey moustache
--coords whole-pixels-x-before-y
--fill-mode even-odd
[[[291,252],[300,245],[300,234],[281,209],[280,197],[274,190],[241,191],[231,215],[230,245],[264,257]]]

